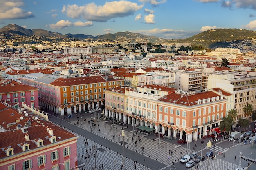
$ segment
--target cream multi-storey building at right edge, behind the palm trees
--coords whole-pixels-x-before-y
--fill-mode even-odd
[[[239,118],[248,118],[243,111],[245,105],[252,104],[254,110],[256,109],[256,76],[212,73],[208,77],[208,89],[218,87],[234,95],[234,109],[237,111],[235,124]]]

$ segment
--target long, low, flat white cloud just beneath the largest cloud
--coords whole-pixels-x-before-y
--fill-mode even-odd
[[[46,25],[47,27],[49,26],[51,29],[63,29],[66,27],[70,27],[70,26],[92,26],[92,22],[91,21],[87,21],[87,22],[75,22],[72,23],[69,20],[60,20],[58,21],[56,24],[49,24]]]

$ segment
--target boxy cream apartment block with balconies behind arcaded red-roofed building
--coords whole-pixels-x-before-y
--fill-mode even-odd
[[[175,73],[175,88],[184,91],[202,91],[202,71]]]

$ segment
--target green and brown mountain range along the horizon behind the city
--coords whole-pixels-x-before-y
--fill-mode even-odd
[[[51,32],[44,29],[26,29],[24,27],[18,26],[16,24],[8,24],[0,28],[0,38],[8,40],[15,39],[20,36],[40,36],[42,38],[48,38],[52,40],[53,38],[69,38],[72,40],[109,40],[114,42],[139,42],[139,43],[177,43],[177,42],[188,42],[194,45],[201,45],[204,48],[216,48],[229,46],[231,42],[238,42],[241,40],[251,40],[256,37],[256,31],[246,30],[246,29],[213,29],[207,30],[192,37],[186,39],[177,40],[166,40],[163,38],[155,36],[147,36],[140,33],[132,32],[117,32],[114,34],[104,34],[104,35],[85,35],[85,34],[61,34],[58,32]],[[40,43],[40,42],[39,42]]]

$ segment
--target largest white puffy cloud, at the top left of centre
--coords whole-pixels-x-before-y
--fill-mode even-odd
[[[67,5],[63,7],[62,12],[71,18],[106,22],[111,18],[132,15],[142,7],[143,5],[121,0],[106,2],[103,6],[97,6],[95,3],[86,4],[85,6]]]

